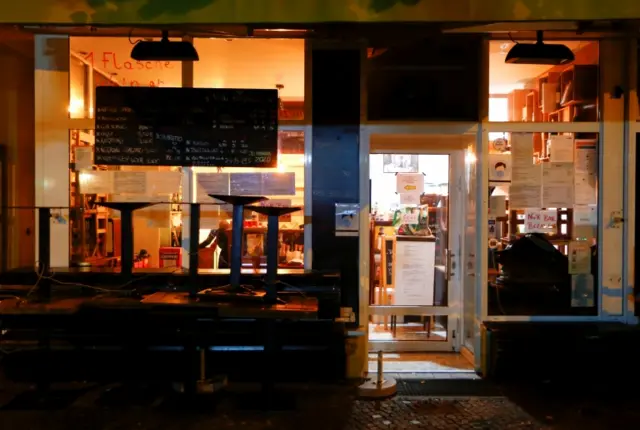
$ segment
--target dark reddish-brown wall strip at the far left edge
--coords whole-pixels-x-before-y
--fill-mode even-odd
[[[34,42],[28,35],[4,35],[0,39],[0,145],[3,204],[34,206]],[[14,37],[15,36],[15,37]],[[4,199],[3,199],[4,200]],[[8,210],[2,220],[2,263],[6,268],[29,267],[35,261],[33,210]],[[5,236],[6,234],[6,236]]]

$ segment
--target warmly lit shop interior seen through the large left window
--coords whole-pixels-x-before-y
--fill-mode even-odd
[[[135,38],[134,38],[135,39]],[[133,40],[135,42],[135,40]],[[280,120],[299,121],[304,118],[304,40],[301,39],[196,39],[194,45],[200,55],[200,61],[194,62],[194,81],[196,88],[243,88],[243,89],[277,89],[280,106]],[[178,62],[134,61],[130,58],[132,41],[127,37],[71,37],[70,38],[70,99],[69,116],[71,118],[93,117],[95,104],[95,87],[97,86],[143,86],[143,87],[181,87],[182,70]],[[70,161],[79,163],[77,159],[83,151],[91,151],[93,132],[72,133]],[[304,133],[299,131],[279,132],[278,167],[273,169],[250,168],[193,168],[196,184],[197,202],[212,203],[206,196],[206,190],[198,183],[198,178],[206,175],[227,174],[232,178],[242,178],[243,174],[269,173],[292,175],[293,182],[287,195],[270,195],[268,189],[264,194],[274,201],[273,204],[301,207],[304,205]],[[137,171],[164,172],[180,177],[175,182],[171,193],[150,195],[149,192],[138,195],[117,194],[114,190],[95,187],[96,173],[91,171]],[[92,265],[118,264],[117,250],[113,250],[114,240],[111,225],[117,220],[116,211],[108,211],[96,205],[99,201],[161,201],[163,204],[142,209],[134,213],[134,252],[144,250],[148,257],[138,267],[166,267],[176,264],[175,261],[163,261],[161,249],[177,249],[181,245],[182,206],[184,201],[182,188],[182,169],[155,168],[140,166],[94,166],[86,163],[77,171],[70,171],[71,206],[85,205],[85,224],[89,225],[89,237],[80,239],[79,221],[71,222],[72,249],[71,259],[89,261]],[[171,173],[173,172],[173,173]],[[235,176],[234,176],[235,175]],[[174,176],[175,177],[175,176]],[[93,178],[93,179],[92,179]],[[92,182],[93,181],[93,182]],[[233,179],[232,179],[233,181]],[[147,179],[149,182],[149,179]],[[93,184],[93,185],[92,185]],[[94,186],[94,188],[92,188]],[[82,189],[92,193],[82,192]],[[87,188],[88,187],[88,188]],[[149,187],[147,187],[149,189]],[[103,191],[93,193],[93,191]],[[111,193],[104,191],[112,191]],[[147,190],[148,191],[148,190]],[[261,193],[262,194],[262,193]],[[124,199],[124,200],[123,200]],[[169,204],[171,203],[171,204]],[[200,242],[206,241],[209,233],[218,230],[220,220],[231,218],[229,208],[225,205],[203,206]],[[245,240],[257,240],[262,249],[264,265],[264,233],[266,220],[257,214],[245,214],[245,229],[255,237]],[[290,267],[298,265],[304,256],[303,232],[304,216],[302,210],[284,216],[280,222],[281,240],[283,241],[281,263]],[[93,227],[96,227],[95,231]],[[117,221],[115,222],[117,226]],[[103,228],[104,227],[104,228]],[[99,233],[99,232],[105,232]],[[94,237],[95,236],[95,237]],[[289,246],[285,246],[288,243]],[[217,245],[209,245],[210,247]],[[117,247],[117,243],[116,243]],[[210,251],[210,249],[209,249]],[[200,267],[213,269],[217,267],[216,252],[201,251],[206,255],[200,261]],[[213,256],[210,254],[213,253]],[[247,256],[248,257],[248,256]],[[294,263],[291,263],[294,261]]]

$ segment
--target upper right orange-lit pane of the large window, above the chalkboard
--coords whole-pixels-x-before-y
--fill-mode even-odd
[[[198,88],[251,88],[280,91],[280,120],[304,119],[302,39],[195,39]]]

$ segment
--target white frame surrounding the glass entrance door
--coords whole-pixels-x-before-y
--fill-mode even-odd
[[[455,267],[452,279],[453,288],[448,288],[449,306],[376,306],[376,315],[447,315],[446,341],[390,341],[368,342],[369,350],[393,352],[410,351],[458,351],[462,345],[462,272],[461,256],[464,254],[464,215],[466,204],[465,154],[469,144],[477,138],[477,123],[408,123],[408,124],[368,124],[360,128],[360,321],[366,330],[368,339],[369,315],[373,309],[369,307],[369,213],[371,202],[369,190],[369,156],[370,153],[412,153],[412,154],[446,154],[450,156],[449,169],[449,243],[452,244]],[[396,137],[401,142],[397,147],[379,148],[371,145],[372,136],[384,135]],[[446,138],[446,145],[409,145],[407,140],[428,138]],[[415,143],[415,142],[414,142]],[[453,209],[457,208],[457,209]]]

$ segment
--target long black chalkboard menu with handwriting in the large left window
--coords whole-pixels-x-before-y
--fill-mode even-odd
[[[278,91],[98,87],[95,163],[275,167]]]

